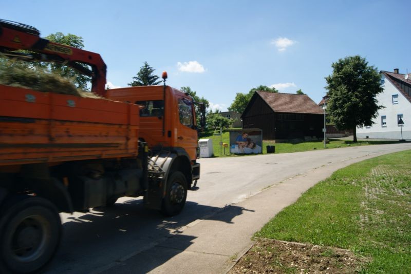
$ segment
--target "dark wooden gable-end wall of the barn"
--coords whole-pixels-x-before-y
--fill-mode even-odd
[[[259,96],[253,96],[245,112],[242,114],[244,129],[263,130],[263,139],[275,139],[275,114],[271,107]]]

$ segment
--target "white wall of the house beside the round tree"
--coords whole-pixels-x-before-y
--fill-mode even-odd
[[[370,139],[401,139],[401,127],[397,124],[397,115],[402,114],[404,125],[402,126],[403,139],[411,139],[411,102],[404,97],[384,75],[384,92],[377,95],[378,104],[385,106],[378,112],[377,118],[369,129],[365,126],[357,129],[358,138]],[[393,95],[398,94],[398,104],[393,104]],[[386,116],[386,126],[382,126],[381,117]]]

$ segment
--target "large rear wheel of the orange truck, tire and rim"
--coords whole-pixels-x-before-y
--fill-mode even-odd
[[[40,197],[15,196],[3,205],[0,220],[0,269],[39,271],[49,263],[61,239],[57,208]]]

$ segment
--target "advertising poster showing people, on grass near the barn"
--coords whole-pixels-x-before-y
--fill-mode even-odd
[[[260,129],[229,130],[230,153],[263,153],[263,131]]]

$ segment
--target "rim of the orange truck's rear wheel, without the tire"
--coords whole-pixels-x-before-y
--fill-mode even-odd
[[[15,260],[32,262],[42,255],[49,230],[46,224],[47,221],[39,215],[21,220],[11,238],[11,251]]]

